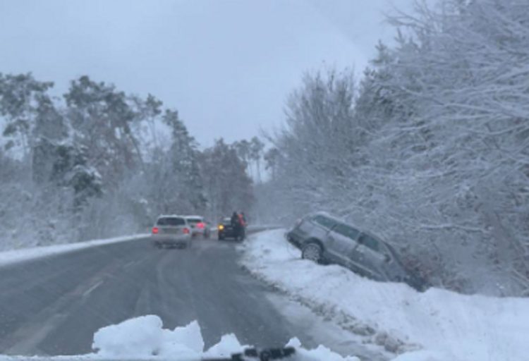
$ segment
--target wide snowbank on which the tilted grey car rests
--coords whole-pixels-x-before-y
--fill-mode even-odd
[[[396,360],[527,360],[529,299],[460,295],[364,279],[336,265],[300,259],[284,230],[250,237],[243,264],[255,276],[403,353]],[[422,350],[406,348],[417,344]],[[408,352],[407,352],[408,351]]]

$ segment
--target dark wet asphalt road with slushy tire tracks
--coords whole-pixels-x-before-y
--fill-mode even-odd
[[[0,353],[89,353],[97,329],[157,314],[168,329],[196,319],[206,345],[229,333],[261,346],[297,336],[304,345],[383,358],[253,279],[236,248],[195,240],[190,250],[157,250],[140,239],[1,267]]]

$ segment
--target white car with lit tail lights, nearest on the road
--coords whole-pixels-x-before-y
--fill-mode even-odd
[[[191,227],[185,216],[159,216],[152,227],[151,240],[156,247],[190,247]]]

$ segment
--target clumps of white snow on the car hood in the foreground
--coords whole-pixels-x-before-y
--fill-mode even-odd
[[[229,334],[222,336],[217,345],[204,350],[204,340],[196,321],[172,331],[162,326],[162,319],[147,315],[99,329],[94,335],[92,348],[95,354],[92,356],[120,360],[156,357],[197,360],[201,357],[229,357],[249,347],[241,345],[235,335]],[[321,345],[314,350],[305,350],[297,338],[288,345],[296,347],[297,357],[293,360],[358,361],[357,357],[341,357]]]

